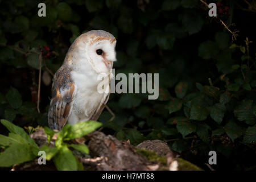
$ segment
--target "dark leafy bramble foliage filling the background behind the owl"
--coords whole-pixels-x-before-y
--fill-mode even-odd
[[[0,118],[47,126],[51,73],[77,36],[103,29],[117,38],[115,73],[159,73],[160,85],[158,100],[111,94],[116,117],[102,112],[104,133],[135,145],[164,140],[206,170],[211,150],[214,169],[255,169],[256,1],[219,2],[228,13],[209,18],[199,0],[55,0],[44,1],[47,16],[39,18],[40,1],[0,1]],[[219,18],[236,23],[236,40]],[[2,125],[0,133],[7,134]]]

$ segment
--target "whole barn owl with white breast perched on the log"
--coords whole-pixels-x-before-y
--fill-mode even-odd
[[[97,92],[101,81],[98,75],[104,73],[109,78],[104,88],[109,89],[116,43],[114,36],[103,30],[86,32],[73,42],[53,77],[48,111],[51,129],[61,130],[66,123],[98,119],[110,93]]]

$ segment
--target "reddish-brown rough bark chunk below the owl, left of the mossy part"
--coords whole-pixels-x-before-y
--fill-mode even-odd
[[[128,142],[121,142],[117,138],[101,132],[89,135],[88,147],[90,155],[101,156],[97,162],[98,170],[152,170],[159,167],[158,162],[152,162],[138,154],[137,148]],[[86,160],[82,160],[85,162]]]

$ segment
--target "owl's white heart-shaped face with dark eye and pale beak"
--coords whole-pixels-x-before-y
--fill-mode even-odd
[[[92,64],[92,67],[100,73],[109,73],[113,67],[115,57],[115,44],[108,39],[102,39],[92,44],[86,45],[86,57]]]

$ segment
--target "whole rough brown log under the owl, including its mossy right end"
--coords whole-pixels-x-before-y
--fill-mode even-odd
[[[39,147],[47,144],[47,137],[43,129],[36,130],[31,137]],[[51,147],[54,146],[56,137],[56,135],[53,136]],[[175,158],[176,154],[162,140],[146,140],[135,147],[129,141],[122,142],[112,135],[94,131],[86,137],[70,142],[86,143],[89,147],[89,158],[88,156],[79,155],[79,152],[73,152],[84,165],[85,170],[154,171],[177,170],[179,166],[179,160]],[[23,164],[15,164],[12,170],[56,170],[56,168],[52,161],[47,162],[47,165],[39,165],[36,159]]]

